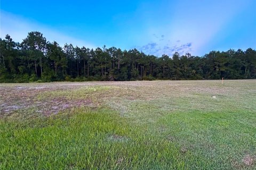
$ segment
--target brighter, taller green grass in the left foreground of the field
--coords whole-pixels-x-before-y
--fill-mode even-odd
[[[1,121],[1,169],[185,168],[179,147],[109,109],[75,109],[39,122]]]

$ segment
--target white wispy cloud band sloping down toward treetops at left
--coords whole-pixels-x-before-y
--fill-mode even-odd
[[[22,42],[30,31],[39,31],[43,33],[43,36],[47,41],[57,41],[60,46],[64,44],[73,44],[74,46],[85,46],[88,48],[95,48],[95,46],[84,40],[74,38],[62,33],[59,30],[46,27],[43,24],[36,23],[28,19],[24,19],[21,16],[17,16],[1,10],[1,29],[0,37],[5,38],[6,34],[9,34],[14,41]]]

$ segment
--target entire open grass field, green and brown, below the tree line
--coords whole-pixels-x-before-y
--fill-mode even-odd
[[[255,169],[256,80],[1,84],[0,169]]]

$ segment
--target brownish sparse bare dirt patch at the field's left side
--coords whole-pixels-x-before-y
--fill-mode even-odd
[[[70,86],[71,84],[69,83],[67,83],[66,86],[64,83],[22,85],[23,86],[12,86],[12,84],[10,84],[10,86],[6,86],[5,84],[5,86],[0,87],[0,117],[11,115],[14,112],[23,112],[28,108],[33,108],[35,112],[49,116],[71,107],[89,106],[93,103],[91,99],[68,100],[62,97],[38,100],[36,98],[38,95],[43,94],[46,91],[72,90],[81,87],[74,86],[74,84],[73,86]]]

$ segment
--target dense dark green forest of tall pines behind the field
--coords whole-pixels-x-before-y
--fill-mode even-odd
[[[29,32],[22,43],[0,39],[1,82],[255,79],[256,51],[248,48],[161,57],[137,49],[89,49],[46,41]]]

